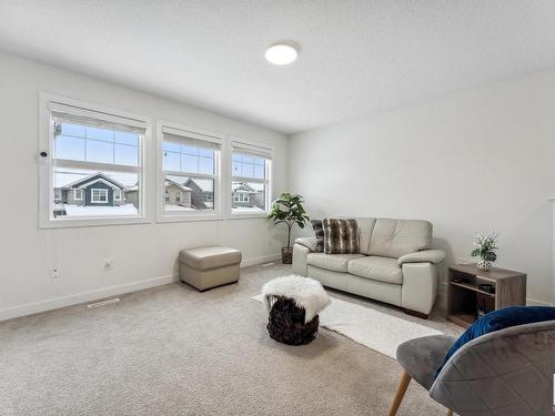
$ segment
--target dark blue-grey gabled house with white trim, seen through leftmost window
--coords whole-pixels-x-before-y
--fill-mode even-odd
[[[54,187],[54,214],[65,215],[64,205],[120,206],[125,204],[125,185],[103,173]]]

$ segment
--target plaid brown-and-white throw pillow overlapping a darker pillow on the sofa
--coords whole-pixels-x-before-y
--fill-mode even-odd
[[[324,229],[324,253],[359,253],[356,220],[324,219],[322,226]]]

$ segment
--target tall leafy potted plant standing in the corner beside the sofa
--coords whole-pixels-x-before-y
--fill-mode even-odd
[[[293,247],[291,246],[291,229],[299,225],[304,229],[304,223],[310,221],[303,206],[303,197],[297,194],[284,192],[272,203],[266,217],[274,224],[284,223],[287,226],[287,245],[281,248],[281,261],[283,264],[293,263]]]

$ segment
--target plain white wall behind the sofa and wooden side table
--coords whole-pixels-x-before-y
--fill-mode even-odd
[[[552,302],[555,71],[293,135],[290,185],[314,217],[427,219],[450,263],[494,230],[497,264]]]

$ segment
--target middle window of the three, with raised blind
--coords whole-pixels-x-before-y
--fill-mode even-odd
[[[165,122],[159,138],[159,219],[218,214],[221,138]]]

